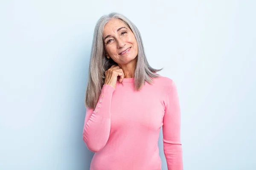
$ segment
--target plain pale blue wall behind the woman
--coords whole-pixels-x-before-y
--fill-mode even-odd
[[[96,21],[112,11],[134,22],[150,65],[177,84],[184,170],[256,170],[255,7],[2,0],[0,170],[89,169],[82,129],[90,48]]]

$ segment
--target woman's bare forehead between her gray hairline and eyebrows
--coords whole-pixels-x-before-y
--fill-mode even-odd
[[[108,35],[108,34],[111,34],[113,32],[116,32],[116,30],[120,27],[127,27],[128,26],[122,21],[122,20],[119,20],[119,19],[113,19],[113,20],[110,20],[108,21],[108,23],[106,23],[106,25],[104,26],[104,29],[103,29],[103,36],[105,35]]]

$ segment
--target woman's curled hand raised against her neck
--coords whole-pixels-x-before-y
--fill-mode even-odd
[[[118,65],[111,65],[107,71],[105,71],[105,84],[111,85],[116,88],[117,77],[120,76],[119,82],[122,82],[124,78],[124,72]]]

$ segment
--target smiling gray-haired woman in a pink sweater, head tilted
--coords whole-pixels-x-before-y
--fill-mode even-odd
[[[162,68],[163,69],[163,68]],[[183,170],[180,105],[172,79],[148,65],[137,27],[117,13],[95,27],[85,95],[83,140],[90,170]]]

